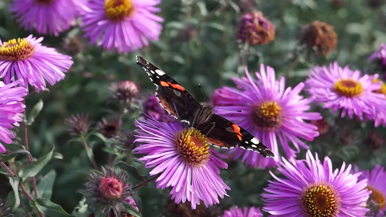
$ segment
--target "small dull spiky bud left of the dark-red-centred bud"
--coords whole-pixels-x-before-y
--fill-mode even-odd
[[[73,136],[81,136],[87,133],[90,128],[90,120],[88,114],[81,113],[71,115],[64,120],[64,125],[67,127],[67,131]]]

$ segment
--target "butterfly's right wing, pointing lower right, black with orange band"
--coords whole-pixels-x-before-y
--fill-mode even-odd
[[[213,146],[227,149],[240,146],[264,157],[274,157],[272,151],[250,132],[219,115],[213,114],[207,122],[194,127],[207,134],[207,141]]]

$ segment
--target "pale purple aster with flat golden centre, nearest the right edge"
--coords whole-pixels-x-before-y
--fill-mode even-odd
[[[342,109],[342,118],[347,114],[352,119],[355,114],[363,120],[363,114],[372,115],[374,108],[386,107],[386,97],[374,92],[381,89],[381,83],[372,80],[369,75],[361,76],[359,70],[334,62],[328,67],[315,67],[305,83],[316,101],[324,103],[323,108],[332,108],[332,112]]]

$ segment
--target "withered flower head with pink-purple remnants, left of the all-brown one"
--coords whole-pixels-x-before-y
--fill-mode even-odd
[[[242,16],[236,38],[251,45],[267,44],[275,39],[275,25],[263,17],[260,11],[254,10]]]

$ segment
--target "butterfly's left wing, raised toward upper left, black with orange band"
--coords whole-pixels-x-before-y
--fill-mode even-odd
[[[200,103],[164,71],[146,59],[137,56],[137,64],[142,66],[150,80],[157,86],[156,97],[163,108],[175,119],[190,124]]]

